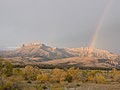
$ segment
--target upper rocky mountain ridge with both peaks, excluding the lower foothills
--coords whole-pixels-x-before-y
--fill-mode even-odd
[[[81,48],[56,48],[41,43],[23,44],[20,48],[9,52],[0,53],[4,57],[42,57],[48,59],[60,59],[70,57],[95,57],[98,59],[115,59],[118,55],[105,50],[81,47]]]

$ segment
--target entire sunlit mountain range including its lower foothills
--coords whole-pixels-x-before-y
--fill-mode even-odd
[[[16,63],[79,64],[84,66],[118,66],[120,56],[91,47],[56,48],[42,43],[23,44],[11,51],[1,51],[0,56]]]

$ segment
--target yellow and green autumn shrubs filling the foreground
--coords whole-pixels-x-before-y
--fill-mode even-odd
[[[83,84],[112,82],[120,82],[120,71],[115,68],[104,71],[74,67],[40,69],[29,65],[14,68],[10,62],[0,59],[0,90],[76,90]]]

